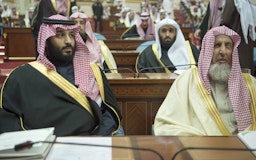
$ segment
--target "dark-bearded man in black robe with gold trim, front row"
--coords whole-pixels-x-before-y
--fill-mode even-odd
[[[9,75],[0,97],[0,133],[55,127],[56,136],[115,135],[121,113],[74,21],[44,19],[38,58]]]

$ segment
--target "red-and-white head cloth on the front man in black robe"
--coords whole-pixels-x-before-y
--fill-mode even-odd
[[[68,21],[68,19],[61,15],[53,15],[49,17],[51,20],[59,20],[60,22]],[[76,50],[73,59],[75,84],[78,86],[86,96],[96,99],[99,95],[99,88],[95,80],[94,74],[90,68],[90,54],[92,54],[85,46],[84,41],[79,35],[79,28],[71,24],[57,24],[57,23],[42,23],[38,35],[38,48],[39,53],[37,61],[44,64],[48,69],[55,70],[55,66],[47,59],[45,53],[46,41],[48,38],[56,35],[56,29],[61,28],[64,30],[71,29],[75,33]]]

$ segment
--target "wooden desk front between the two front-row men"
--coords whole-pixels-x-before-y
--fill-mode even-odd
[[[128,73],[106,75],[121,108],[125,134],[151,135],[155,115],[177,75],[146,73],[141,78],[131,78]]]

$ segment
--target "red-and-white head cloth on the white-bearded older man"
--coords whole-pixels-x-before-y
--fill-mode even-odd
[[[202,49],[198,60],[198,72],[205,88],[211,93],[208,71],[213,57],[215,36],[221,34],[229,36],[234,43],[231,71],[228,78],[228,93],[238,130],[242,131],[251,124],[251,116],[249,110],[250,95],[242,76],[237,51],[241,41],[240,36],[226,26],[215,27],[209,30],[202,41]]]

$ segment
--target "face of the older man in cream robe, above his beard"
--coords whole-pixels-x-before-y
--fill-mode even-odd
[[[214,41],[212,64],[232,64],[234,43],[227,35],[217,35]]]

